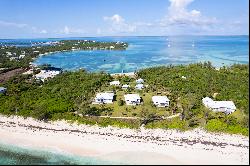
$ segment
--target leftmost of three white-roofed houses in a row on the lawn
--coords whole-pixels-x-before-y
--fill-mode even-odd
[[[113,103],[114,95],[112,92],[97,93],[93,104]]]

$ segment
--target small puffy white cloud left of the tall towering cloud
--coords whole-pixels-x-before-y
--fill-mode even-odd
[[[118,14],[114,14],[111,17],[103,17],[104,21],[108,21],[111,24],[111,33],[132,33],[136,31],[136,24],[129,24]]]

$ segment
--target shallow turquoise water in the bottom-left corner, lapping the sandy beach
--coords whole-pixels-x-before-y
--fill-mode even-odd
[[[58,151],[32,149],[0,142],[0,165],[115,165],[125,162],[105,161]]]

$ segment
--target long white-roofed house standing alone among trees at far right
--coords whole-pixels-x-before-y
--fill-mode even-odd
[[[214,101],[209,97],[202,99],[202,103],[214,112],[224,112],[226,114],[231,114],[236,110],[236,106],[233,101]]]

